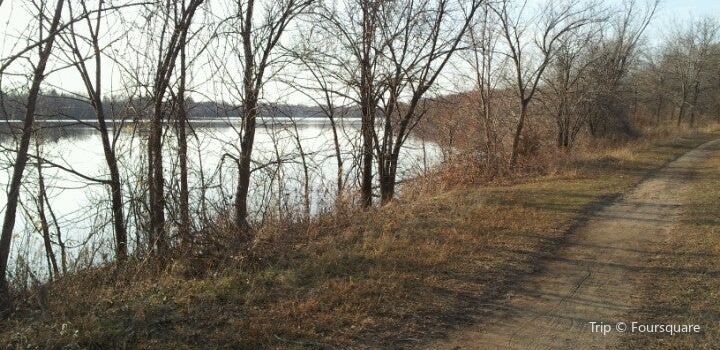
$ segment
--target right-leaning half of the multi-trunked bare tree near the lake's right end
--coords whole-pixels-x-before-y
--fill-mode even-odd
[[[426,113],[421,106],[423,97],[458,50],[481,4],[480,0],[428,0],[382,7],[386,22],[381,35],[386,45],[378,52],[387,70],[383,80],[375,82],[382,86],[383,119],[381,134],[373,137],[383,203],[395,195],[402,146]]]

